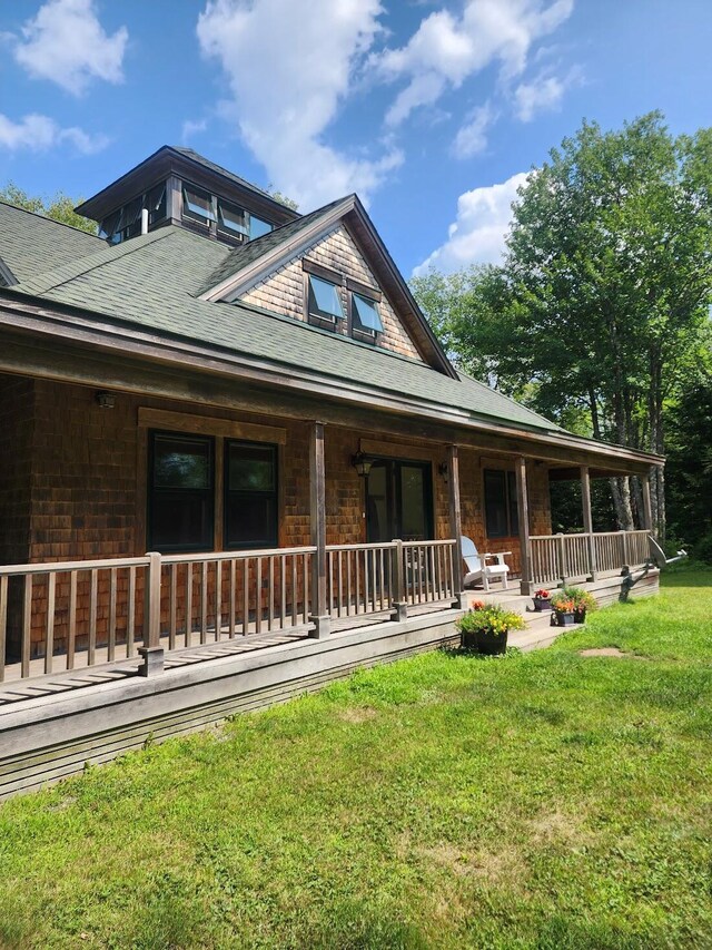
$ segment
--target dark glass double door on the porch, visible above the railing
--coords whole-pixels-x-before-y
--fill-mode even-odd
[[[378,459],[366,479],[366,540],[370,543],[433,538],[429,462]]]

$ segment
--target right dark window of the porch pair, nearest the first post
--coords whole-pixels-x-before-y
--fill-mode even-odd
[[[274,548],[277,541],[277,447],[225,443],[225,547]]]

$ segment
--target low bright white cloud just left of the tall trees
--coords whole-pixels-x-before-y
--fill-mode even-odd
[[[512,203],[526,178],[526,173],[520,172],[498,185],[473,188],[461,195],[457,218],[448,228],[447,241],[413,273],[423,274],[431,267],[449,273],[469,264],[498,263],[512,221]]]

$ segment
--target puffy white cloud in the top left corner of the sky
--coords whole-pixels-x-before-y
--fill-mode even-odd
[[[121,82],[128,30],[109,36],[93,0],[47,0],[22,27],[14,58],[30,76],[50,79],[78,96],[91,79]]]

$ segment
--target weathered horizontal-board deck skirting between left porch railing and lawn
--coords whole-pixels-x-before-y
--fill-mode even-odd
[[[0,712],[0,800],[236,713],[283,703],[359,668],[436,649],[457,610],[300,640],[247,656],[27,699]]]

